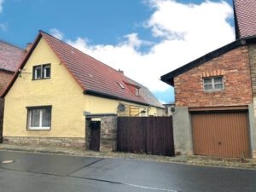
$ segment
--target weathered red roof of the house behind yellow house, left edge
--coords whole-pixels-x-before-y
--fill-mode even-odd
[[[0,40],[0,69],[15,72],[26,50]]]

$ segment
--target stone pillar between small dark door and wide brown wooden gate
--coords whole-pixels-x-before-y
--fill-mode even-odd
[[[117,116],[101,118],[100,151],[117,149]]]

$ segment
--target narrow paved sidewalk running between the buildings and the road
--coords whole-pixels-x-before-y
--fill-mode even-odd
[[[7,144],[1,143],[0,150],[23,151],[32,153],[47,154],[69,154],[84,157],[101,157],[101,158],[122,158],[136,160],[152,160],[167,163],[183,163],[195,166],[219,166],[227,168],[240,168],[256,170],[256,160],[239,160],[239,159],[220,159],[203,156],[185,156],[177,155],[176,157],[166,157],[148,154],[131,154],[122,152],[96,152],[84,150],[84,148],[73,147],[55,147],[47,145],[24,145],[24,144]]]

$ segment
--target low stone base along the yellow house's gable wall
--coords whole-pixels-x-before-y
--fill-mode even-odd
[[[83,137],[3,137],[3,143],[44,144],[64,147],[84,147],[85,139]]]

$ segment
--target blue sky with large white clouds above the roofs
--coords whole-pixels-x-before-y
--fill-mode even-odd
[[[174,102],[160,76],[235,40],[232,0],[0,0],[0,39],[20,48],[38,30]]]

